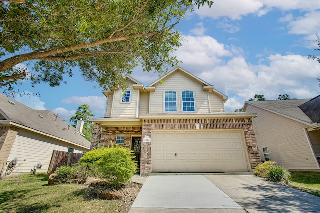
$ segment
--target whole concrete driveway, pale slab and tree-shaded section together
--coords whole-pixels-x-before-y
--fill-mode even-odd
[[[320,198],[252,175],[150,176],[129,213],[320,212]]]

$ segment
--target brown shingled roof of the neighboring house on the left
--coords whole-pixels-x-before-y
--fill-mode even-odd
[[[51,110],[32,109],[2,93],[0,100],[0,113],[5,118],[1,123],[17,125],[70,144],[90,148],[90,142],[80,132]]]

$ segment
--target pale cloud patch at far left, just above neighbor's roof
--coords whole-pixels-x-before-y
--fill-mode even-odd
[[[24,91],[21,95],[15,94],[14,100],[17,100],[32,109],[45,109],[45,103],[41,101],[40,97],[30,91]]]

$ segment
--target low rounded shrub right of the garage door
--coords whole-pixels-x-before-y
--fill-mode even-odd
[[[283,182],[285,184],[288,184],[291,179],[291,173],[283,167],[276,166],[274,161],[266,161],[259,164],[255,168],[254,174],[269,181]]]

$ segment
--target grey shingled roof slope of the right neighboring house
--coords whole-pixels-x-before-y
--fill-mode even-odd
[[[250,104],[252,106],[310,125],[314,122],[299,108],[301,104],[304,104],[309,100],[310,99],[246,101],[243,107],[243,112],[245,112],[247,104]]]

